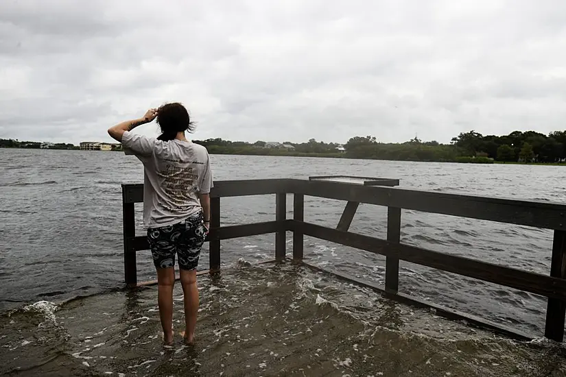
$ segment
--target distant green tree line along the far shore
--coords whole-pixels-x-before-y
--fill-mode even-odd
[[[379,143],[375,136],[355,136],[344,144],[325,143],[311,138],[306,143],[273,145],[265,141],[248,143],[222,138],[195,140],[210,154],[246,154],[258,156],[317,156],[366,158],[375,160],[435,161],[435,162],[541,162],[566,163],[566,131],[548,135],[534,131],[514,131],[506,136],[462,132],[449,144],[421,141],[417,137],[405,143]],[[0,147],[34,148],[42,143],[0,139]],[[44,146],[45,147],[45,146]],[[49,149],[78,149],[75,145],[59,143]]]

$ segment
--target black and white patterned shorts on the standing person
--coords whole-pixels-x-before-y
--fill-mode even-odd
[[[178,254],[180,269],[196,269],[206,231],[202,212],[171,226],[148,229],[155,267],[175,267],[175,254]]]

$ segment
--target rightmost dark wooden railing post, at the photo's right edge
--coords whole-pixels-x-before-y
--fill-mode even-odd
[[[554,230],[550,276],[566,278],[566,231],[564,230]],[[565,316],[566,302],[549,298],[546,307],[545,337],[560,342],[564,340]]]

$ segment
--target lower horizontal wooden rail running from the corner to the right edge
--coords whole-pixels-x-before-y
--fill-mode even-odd
[[[463,256],[443,254],[402,243],[392,243],[362,234],[341,232],[340,230],[311,223],[294,221],[291,228],[292,230],[300,229],[305,235],[313,236],[317,239],[355,247],[356,249],[366,250],[375,254],[399,258],[417,265],[458,273],[458,275],[484,280],[485,282],[493,282],[537,295],[566,300],[566,279],[552,278],[540,273],[494,265]]]

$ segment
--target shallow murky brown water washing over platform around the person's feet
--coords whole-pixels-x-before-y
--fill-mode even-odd
[[[197,344],[161,342],[156,288],[0,317],[0,374],[564,376],[566,352],[449,321],[306,267],[239,263],[200,279]],[[182,293],[175,291],[176,330]]]

